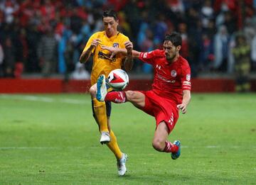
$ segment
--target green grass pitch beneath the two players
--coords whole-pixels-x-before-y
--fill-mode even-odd
[[[151,147],[155,121],[112,104],[112,129],[129,155],[116,160],[92,118],[90,96],[0,95],[0,184],[255,184],[256,94],[192,94],[169,140],[176,161]]]

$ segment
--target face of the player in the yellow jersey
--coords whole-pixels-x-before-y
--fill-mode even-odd
[[[113,17],[103,18],[103,24],[107,37],[112,37],[117,34],[118,20],[115,21]]]

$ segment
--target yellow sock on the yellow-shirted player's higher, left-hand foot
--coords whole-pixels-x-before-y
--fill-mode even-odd
[[[93,108],[97,118],[97,122],[100,126],[100,132],[109,132],[107,128],[107,113],[106,113],[106,103],[97,101],[97,99],[92,99]]]

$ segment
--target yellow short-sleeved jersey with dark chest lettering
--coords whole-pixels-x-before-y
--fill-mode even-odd
[[[100,39],[101,42],[99,45],[97,45],[97,47],[95,47],[92,50],[93,64],[92,64],[92,73],[91,73],[91,85],[97,82],[97,78],[101,74],[105,74],[105,77],[107,77],[107,75],[113,69],[121,69],[122,62],[125,57],[124,55],[119,53],[114,57],[112,57],[112,60],[110,60],[111,53],[108,50],[102,50],[100,45],[125,48],[124,43],[129,41],[129,38],[122,33],[118,32],[117,35],[114,35],[111,38],[108,38],[107,35],[105,34],[105,31],[100,31],[100,32],[94,33],[89,38],[83,52],[90,47],[92,40],[95,40],[95,39]]]

